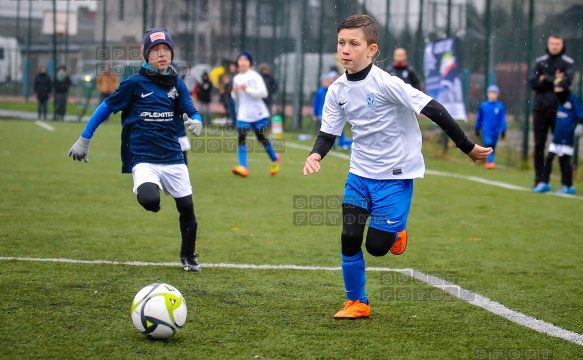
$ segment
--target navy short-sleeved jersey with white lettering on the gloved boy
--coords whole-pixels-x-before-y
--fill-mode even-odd
[[[112,112],[122,112],[122,172],[131,172],[139,163],[184,164],[178,142],[184,135],[182,114],[191,119],[200,115],[182,79],[164,88],[138,73],[105,102]]]

